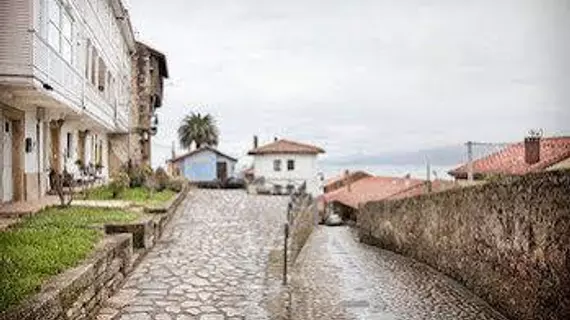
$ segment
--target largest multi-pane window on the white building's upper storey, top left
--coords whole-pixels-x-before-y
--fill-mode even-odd
[[[59,0],[48,1],[48,43],[67,62],[73,62],[73,20]]]

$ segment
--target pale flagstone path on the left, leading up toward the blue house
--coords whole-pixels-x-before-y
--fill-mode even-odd
[[[98,319],[270,319],[269,253],[287,198],[193,190]]]

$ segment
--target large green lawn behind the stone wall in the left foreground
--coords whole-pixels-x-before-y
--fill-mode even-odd
[[[50,276],[85,259],[103,237],[91,226],[137,218],[121,210],[48,208],[0,232],[0,312],[37,292]]]

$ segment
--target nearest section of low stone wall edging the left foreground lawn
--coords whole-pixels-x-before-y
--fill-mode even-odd
[[[79,320],[96,316],[101,302],[117,291],[130,272],[131,235],[105,238],[80,266],[51,279],[25,303],[0,320]]]

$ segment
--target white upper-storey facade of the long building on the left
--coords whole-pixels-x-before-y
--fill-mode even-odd
[[[109,0],[63,1],[73,20],[73,58],[67,61],[48,41],[48,0],[0,2],[0,81],[49,84],[53,89],[45,95],[62,106],[83,110],[108,130],[126,132],[132,77],[129,48],[134,49],[134,42],[123,37],[119,27],[123,20],[116,19],[124,14],[113,10]],[[112,87],[105,86],[105,93],[86,78],[86,66],[92,67],[87,60],[88,41],[114,79]],[[122,117],[121,125],[116,125],[115,115]]]

